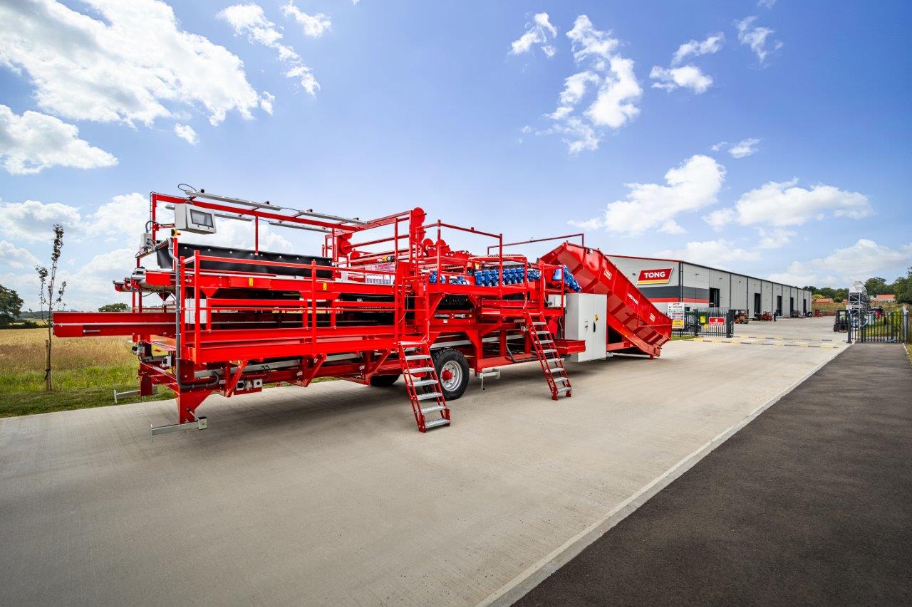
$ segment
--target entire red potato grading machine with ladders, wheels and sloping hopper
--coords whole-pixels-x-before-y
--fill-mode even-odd
[[[361,221],[183,192],[150,195],[135,269],[115,283],[131,294],[130,312],[54,315],[58,337],[132,337],[136,394],[166,386],[177,398],[178,423],[153,434],[206,427],[196,411],[213,392],[307,386],[323,376],[368,386],[401,376],[423,432],[450,424],[447,401],[462,395],[470,373],[483,382],[504,365],[537,363],[556,400],[573,394],[566,356],[652,358],[670,335],[668,317],[582,244],[562,242],[530,262],[504,253],[523,243],[428,221],[418,208]],[[223,220],[252,222],[254,249],[181,242]],[[322,232],[321,255],[261,251],[263,222]],[[493,243],[483,255],[454,251],[444,232]]]

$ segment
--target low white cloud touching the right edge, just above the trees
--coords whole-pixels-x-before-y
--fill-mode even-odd
[[[896,249],[860,239],[843,249],[810,262],[791,262],[785,272],[770,275],[770,280],[786,284],[849,285],[872,276],[897,274],[912,265],[912,242]]]

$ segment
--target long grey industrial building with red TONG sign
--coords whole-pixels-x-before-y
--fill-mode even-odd
[[[686,309],[721,307],[747,310],[751,315],[811,311],[812,293],[792,284],[677,259],[627,255],[608,255],[608,259],[662,312],[668,312],[672,302],[682,302]]]

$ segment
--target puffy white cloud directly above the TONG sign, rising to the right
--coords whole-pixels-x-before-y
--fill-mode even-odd
[[[668,185],[629,183],[627,200],[608,203],[604,215],[588,221],[570,223],[631,236],[649,230],[680,233],[674,218],[682,212],[698,211],[716,201],[725,180],[725,168],[701,154],[690,157],[665,174]]]

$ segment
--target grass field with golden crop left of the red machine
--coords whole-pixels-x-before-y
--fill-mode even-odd
[[[114,404],[113,391],[135,390],[137,360],[125,337],[53,338],[54,391],[45,392],[47,329],[0,331],[0,417]],[[157,396],[120,402],[170,398]]]

